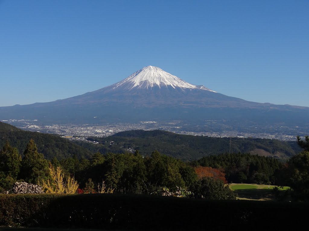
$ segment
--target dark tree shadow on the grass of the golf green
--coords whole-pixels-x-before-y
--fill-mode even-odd
[[[272,200],[274,199],[273,190],[272,189],[257,189],[257,188],[249,188],[249,189],[237,189],[234,191],[238,194],[240,198],[248,198],[254,200]]]

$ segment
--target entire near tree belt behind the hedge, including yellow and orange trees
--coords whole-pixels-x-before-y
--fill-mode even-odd
[[[309,137],[303,148],[286,164],[265,156],[231,153],[205,156],[185,163],[152,152],[96,152],[90,159],[74,157],[46,160],[30,140],[23,152],[6,141],[0,150],[0,191],[16,181],[41,185],[50,193],[129,193],[178,195],[208,199],[235,199],[226,183],[256,183],[290,186],[294,195],[309,195]],[[230,182],[229,182],[230,181]]]

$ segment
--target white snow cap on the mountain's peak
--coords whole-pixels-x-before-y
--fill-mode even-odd
[[[114,88],[123,86],[125,89],[131,90],[133,88],[152,88],[155,86],[158,87],[168,87],[171,86],[174,89],[180,87],[182,89],[203,89],[207,91],[212,91],[204,86],[197,86],[191,83],[187,83],[184,80],[178,78],[175,75],[171,75],[166,71],[163,71],[159,67],[147,66],[142,68],[139,71],[134,72],[128,78],[124,79],[121,82],[114,84]],[[215,91],[214,91],[215,92]]]

